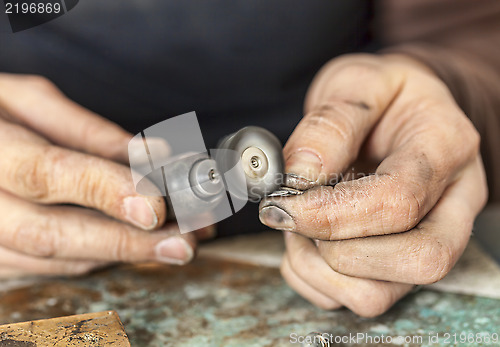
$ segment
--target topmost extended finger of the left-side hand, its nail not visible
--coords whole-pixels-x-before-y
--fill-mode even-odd
[[[0,74],[0,106],[11,120],[57,145],[120,162],[128,160],[130,133],[71,101],[43,77]]]

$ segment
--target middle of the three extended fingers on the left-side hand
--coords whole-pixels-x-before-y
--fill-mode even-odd
[[[95,208],[146,230],[164,223],[164,200],[138,194],[129,168],[43,144],[31,131],[1,123],[0,187],[4,190],[36,202]]]

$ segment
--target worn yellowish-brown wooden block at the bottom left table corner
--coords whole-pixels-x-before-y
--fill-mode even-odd
[[[1,325],[0,346],[130,347],[130,342],[118,314],[106,311]]]

